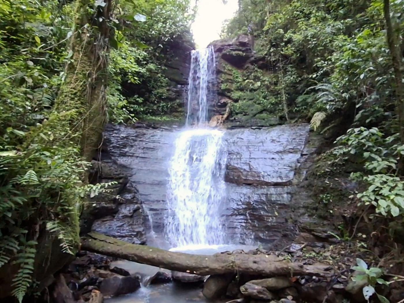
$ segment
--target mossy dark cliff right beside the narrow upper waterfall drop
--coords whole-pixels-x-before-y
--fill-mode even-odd
[[[223,114],[232,103],[228,126],[271,126],[282,123],[278,78],[274,63],[255,53],[248,36],[217,40],[210,45],[217,59],[216,104],[210,112]],[[212,115],[213,115],[212,114]]]

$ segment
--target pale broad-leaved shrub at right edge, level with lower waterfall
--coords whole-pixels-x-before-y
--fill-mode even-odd
[[[364,171],[351,178],[362,181],[367,189],[357,195],[360,203],[373,204],[384,216],[404,213],[404,181],[397,177],[398,161],[404,145],[398,135],[385,136],[378,128],[351,128],[336,141],[332,153],[343,161],[360,163]]]

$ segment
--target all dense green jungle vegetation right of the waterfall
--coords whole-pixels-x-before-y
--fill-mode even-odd
[[[323,178],[321,204],[331,212],[338,199],[340,206],[355,205],[355,228],[341,227],[338,237],[351,240],[358,223],[366,221],[369,229],[361,236],[400,255],[404,1],[240,0],[238,13],[223,27],[224,36],[239,34],[254,37],[267,70],[233,76],[236,112],[246,103],[260,104],[285,121],[311,121],[314,130],[335,141],[316,173]],[[341,200],[328,179],[344,173],[356,189]],[[383,242],[386,234],[394,240]]]

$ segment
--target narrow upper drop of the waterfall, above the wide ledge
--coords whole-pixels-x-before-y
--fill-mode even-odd
[[[207,122],[208,101],[216,99],[216,60],[213,46],[192,50],[186,126]]]

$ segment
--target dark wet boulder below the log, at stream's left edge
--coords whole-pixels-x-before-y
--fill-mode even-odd
[[[100,291],[104,296],[119,296],[134,292],[140,288],[139,279],[135,277],[114,276],[101,282]]]

